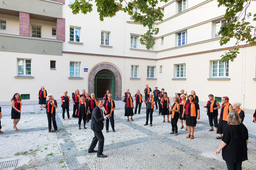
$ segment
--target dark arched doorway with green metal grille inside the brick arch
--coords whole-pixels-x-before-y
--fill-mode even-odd
[[[103,98],[106,90],[112,94],[115,99],[115,77],[108,70],[99,71],[94,78],[94,94],[96,98]]]

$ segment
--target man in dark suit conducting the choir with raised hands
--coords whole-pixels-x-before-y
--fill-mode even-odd
[[[103,112],[101,107],[103,107],[103,100],[97,100],[98,106],[96,106],[91,113],[91,130],[94,132],[94,138],[92,139],[91,146],[88,149],[88,153],[97,152],[97,157],[105,158],[107,155],[104,155],[103,147],[104,147],[104,136],[102,134],[103,126],[105,124],[105,120],[111,117],[111,113],[103,117]],[[98,151],[94,150],[95,146],[98,144]]]

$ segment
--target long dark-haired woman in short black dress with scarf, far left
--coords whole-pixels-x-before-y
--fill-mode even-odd
[[[17,124],[20,121],[20,113],[21,113],[21,99],[20,99],[20,94],[15,93],[12,97],[12,116],[11,118],[13,119],[13,128],[14,131],[18,131]]]

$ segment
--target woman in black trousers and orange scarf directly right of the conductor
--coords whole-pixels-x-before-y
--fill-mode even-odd
[[[109,115],[111,113],[111,117],[106,119],[106,133],[108,133],[109,120],[111,123],[111,128],[113,132],[115,132],[115,121],[114,121],[114,110],[115,110],[115,102],[112,100],[112,94],[108,94],[108,98],[105,100],[103,104],[104,115]]]

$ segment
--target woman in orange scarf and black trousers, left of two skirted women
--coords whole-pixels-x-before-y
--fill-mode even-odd
[[[171,111],[171,133],[170,134],[174,134],[175,136],[178,135],[178,126],[177,126],[177,122],[179,120],[179,112],[180,112],[180,104],[179,101],[180,99],[178,97],[174,97],[173,98],[173,105],[171,106],[171,109],[169,109]]]

